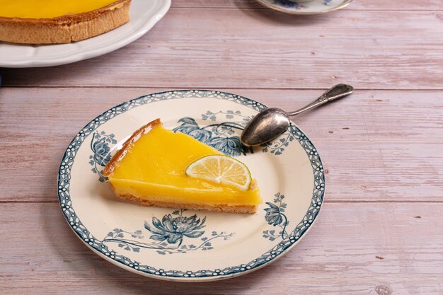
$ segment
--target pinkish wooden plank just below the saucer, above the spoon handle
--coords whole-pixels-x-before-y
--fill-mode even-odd
[[[441,89],[442,22],[441,13],[432,11],[294,18],[263,9],[172,8],[121,50],[1,74],[5,86],[324,88],[346,82],[357,88]]]

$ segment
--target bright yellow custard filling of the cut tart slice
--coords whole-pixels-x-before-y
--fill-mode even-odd
[[[190,163],[221,152],[181,133],[155,126],[135,141],[114,168],[109,181],[117,195],[160,202],[260,204],[255,183],[247,191],[189,177]]]

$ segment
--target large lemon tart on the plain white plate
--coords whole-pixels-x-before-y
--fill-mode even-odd
[[[88,39],[130,20],[131,0],[0,0],[0,41],[57,44]]]

